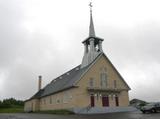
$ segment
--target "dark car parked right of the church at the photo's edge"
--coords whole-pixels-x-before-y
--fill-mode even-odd
[[[143,113],[156,113],[160,111],[160,103],[149,103],[140,109]]]

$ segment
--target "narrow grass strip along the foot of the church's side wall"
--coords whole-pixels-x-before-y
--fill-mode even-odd
[[[40,113],[40,114],[60,114],[60,115],[69,115],[69,114],[74,114],[74,112],[61,109],[61,110],[46,110],[46,111],[37,111],[34,113]]]

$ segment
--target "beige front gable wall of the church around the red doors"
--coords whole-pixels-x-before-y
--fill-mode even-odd
[[[107,87],[108,89],[115,89],[114,80],[116,80],[117,86],[116,89],[124,90],[120,93],[111,93],[111,92],[92,92],[87,91],[89,87],[90,78],[94,79],[94,87],[101,89],[100,85],[100,73],[102,73],[102,69],[106,68],[107,73]],[[118,95],[119,98],[119,106],[128,106],[129,105],[129,97],[128,97],[128,87],[122,81],[121,77],[114,70],[112,65],[107,61],[107,59],[102,56],[90,70],[82,77],[82,79],[77,83],[79,86],[78,91],[76,92],[76,100],[78,103],[75,104],[76,107],[86,107],[90,105],[90,94],[94,94],[95,96],[95,106],[102,107],[102,96],[108,95],[109,97],[109,106],[115,107],[115,94]],[[101,95],[101,96],[100,96]]]

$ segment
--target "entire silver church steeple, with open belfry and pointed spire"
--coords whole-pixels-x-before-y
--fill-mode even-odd
[[[84,56],[81,64],[81,68],[89,65],[94,61],[94,59],[103,52],[102,50],[102,41],[103,39],[96,37],[93,18],[92,18],[92,2],[90,6],[90,26],[89,26],[89,37],[84,40]]]

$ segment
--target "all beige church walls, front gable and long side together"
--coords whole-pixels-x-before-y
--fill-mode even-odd
[[[95,88],[101,89],[100,74],[106,68],[107,73],[107,89],[123,89],[120,93],[107,92],[107,91],[89,91],[89,80],[94,79]],[[117,82],[116,88],[114,87],[114,80]],[[90,95],[95,95],[95,106],[102,107],[102,96],[109,97],[109,107],[115,107],[115,94],[119,98],[119,106],[128,106],[128,87],[122,81],[121,77],[114,70],[112,65],[107,59],[102,56],[97,62],[88,70],[88,72],[76,83],[77,88],[71,88],[50,96],[41,98],[40,100],[30,100],[25,102],[25,110],[55,110],[55,109],[72,109],[84,108],[90,106]]]

